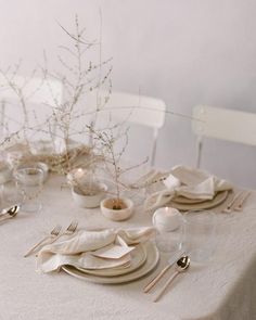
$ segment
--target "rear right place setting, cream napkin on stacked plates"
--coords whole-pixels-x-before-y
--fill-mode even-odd
[[[158,191],[150,194],[144,207],[153,210],[168,205],[181,212],[210,209],[221,205],[233,185],[207,171],[182,165],[171,168]]]

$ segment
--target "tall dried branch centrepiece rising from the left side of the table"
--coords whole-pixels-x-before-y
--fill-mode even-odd
[[[0,145],[15,154],[16,165],[43,162],[50,170],[68,175],[68,181],[81,194],[102,191],[97,175],[104,171],[114,185],[108,190],[113,209],[118,210],[124,207],[121,190],[141,188],[125,183],[124,174],[148,159],[132,167],[121,166],[129,141],[126,119],[113,124],[110,116],[106,127],[97,126],[112,94],[112,59],[102,59],[101,35],[99,41],[88,41],[77,16],[74,33],[60,27],[69,39],[68,46],[60,46],[60,71],[50,71],[46,53],[43,66],[35,68],[27,78],[20,76],[22,62],[0,69],[0,97],[7,97],[1,101]],[[95,93],[94,100],[88,102],[91,92]],[[16,98],[15,104],[8,100],[11,93]],[[31,107],[31,102],[39,103],[40,108]],[[23,115],[21,118],[15,116],[14,105]],[[77,172],[85,177],[81,179]]]

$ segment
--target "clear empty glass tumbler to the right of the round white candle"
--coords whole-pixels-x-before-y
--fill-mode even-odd
[[[185,213],[183,249],[191,261],[207,263],[216,246],[216,214],[206,210]]]

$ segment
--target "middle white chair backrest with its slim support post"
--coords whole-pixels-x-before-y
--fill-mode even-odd
[[[92,110],[95,108],[97,99],[99,99],[97,92],[92,92],[87,97],[87,105],[91,104]],[[105,99],[107,102],[104,104]],[[104,104],[99,113],[102,118],[106,118],[111,114],[115,120],[127,120],[153,129],[151,165],[154,165],[158,130],[165,123],[165,102],[151,97],[117,91],[111,92],[111,94],[107,91],[101,91],[98,102],[100,105]]]

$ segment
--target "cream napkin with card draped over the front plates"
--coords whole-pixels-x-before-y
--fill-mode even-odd
[[[37,270],[50,272],[63,265],[84,269],[129,266],[132,245],[148,241],[154,228],[85,231],[46,245],[38,254]]]

